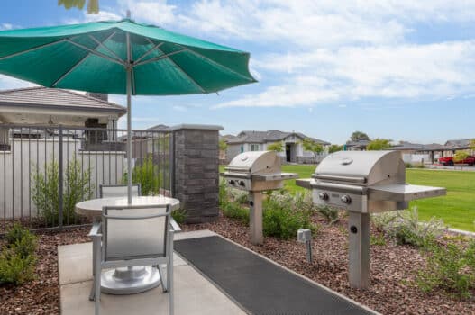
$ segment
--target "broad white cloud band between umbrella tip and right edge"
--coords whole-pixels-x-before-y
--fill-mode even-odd
[[[255,64],[287,76],[285,83],[215,108],[307,106],[364,97],[434,99],[475,91],[475,41],[316,49],[292,58],[265,56]]]

